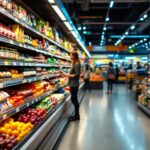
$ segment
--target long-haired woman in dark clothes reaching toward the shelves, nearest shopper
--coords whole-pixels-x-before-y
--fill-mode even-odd
[[[63,73],[65,76],[69,77],[68,85],[70,86],[71,101],[75,108],[75,115],[70,117],[70,121],[80,120],[79,115],[79,102],[78,102],[78,89],[79,89],[79,78],[81,72],[81,64],[77,52],[72,52],[70,54],[72,60],[72,67],[70,73]]]

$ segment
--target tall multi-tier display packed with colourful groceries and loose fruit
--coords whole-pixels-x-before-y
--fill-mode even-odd
[[[23,1],[0,1],[1,150],[36,149],[50,129],[63,130],[67,119],[62,128],[55,124],[67,109],[73,112],[68,78],[60,68],[69,72],[75,44],[27,7]]]

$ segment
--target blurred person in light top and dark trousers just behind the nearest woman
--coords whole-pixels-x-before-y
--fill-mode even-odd
[[[86,64],[85,71],[83,72],[83,74],[81,76],[84,79],[85,89],[86,90],[88,89],[89,91],[91,91],[90,75],[91,75],[90,66],[88,64]]]

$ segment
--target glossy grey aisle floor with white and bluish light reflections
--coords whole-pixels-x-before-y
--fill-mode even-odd
[[[124,86],[107,95],[87,93],[81,120],[71,122],[58,150],[150,150],[150,118],[141,112]]]

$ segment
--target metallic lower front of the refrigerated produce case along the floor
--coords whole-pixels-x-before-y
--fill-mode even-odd
[[[84,84],[82,83],[78,93],[79,102],[82,101],[85,95],[83,87]],[[53,149],[68,123],[68,117],[74,112],[73,105],[70,101],[70,95],[65,99],[66,100],[52,110],[47,118],[45,118],[45,120],[43,120],[43,122],[41,122],[15,149]]]

